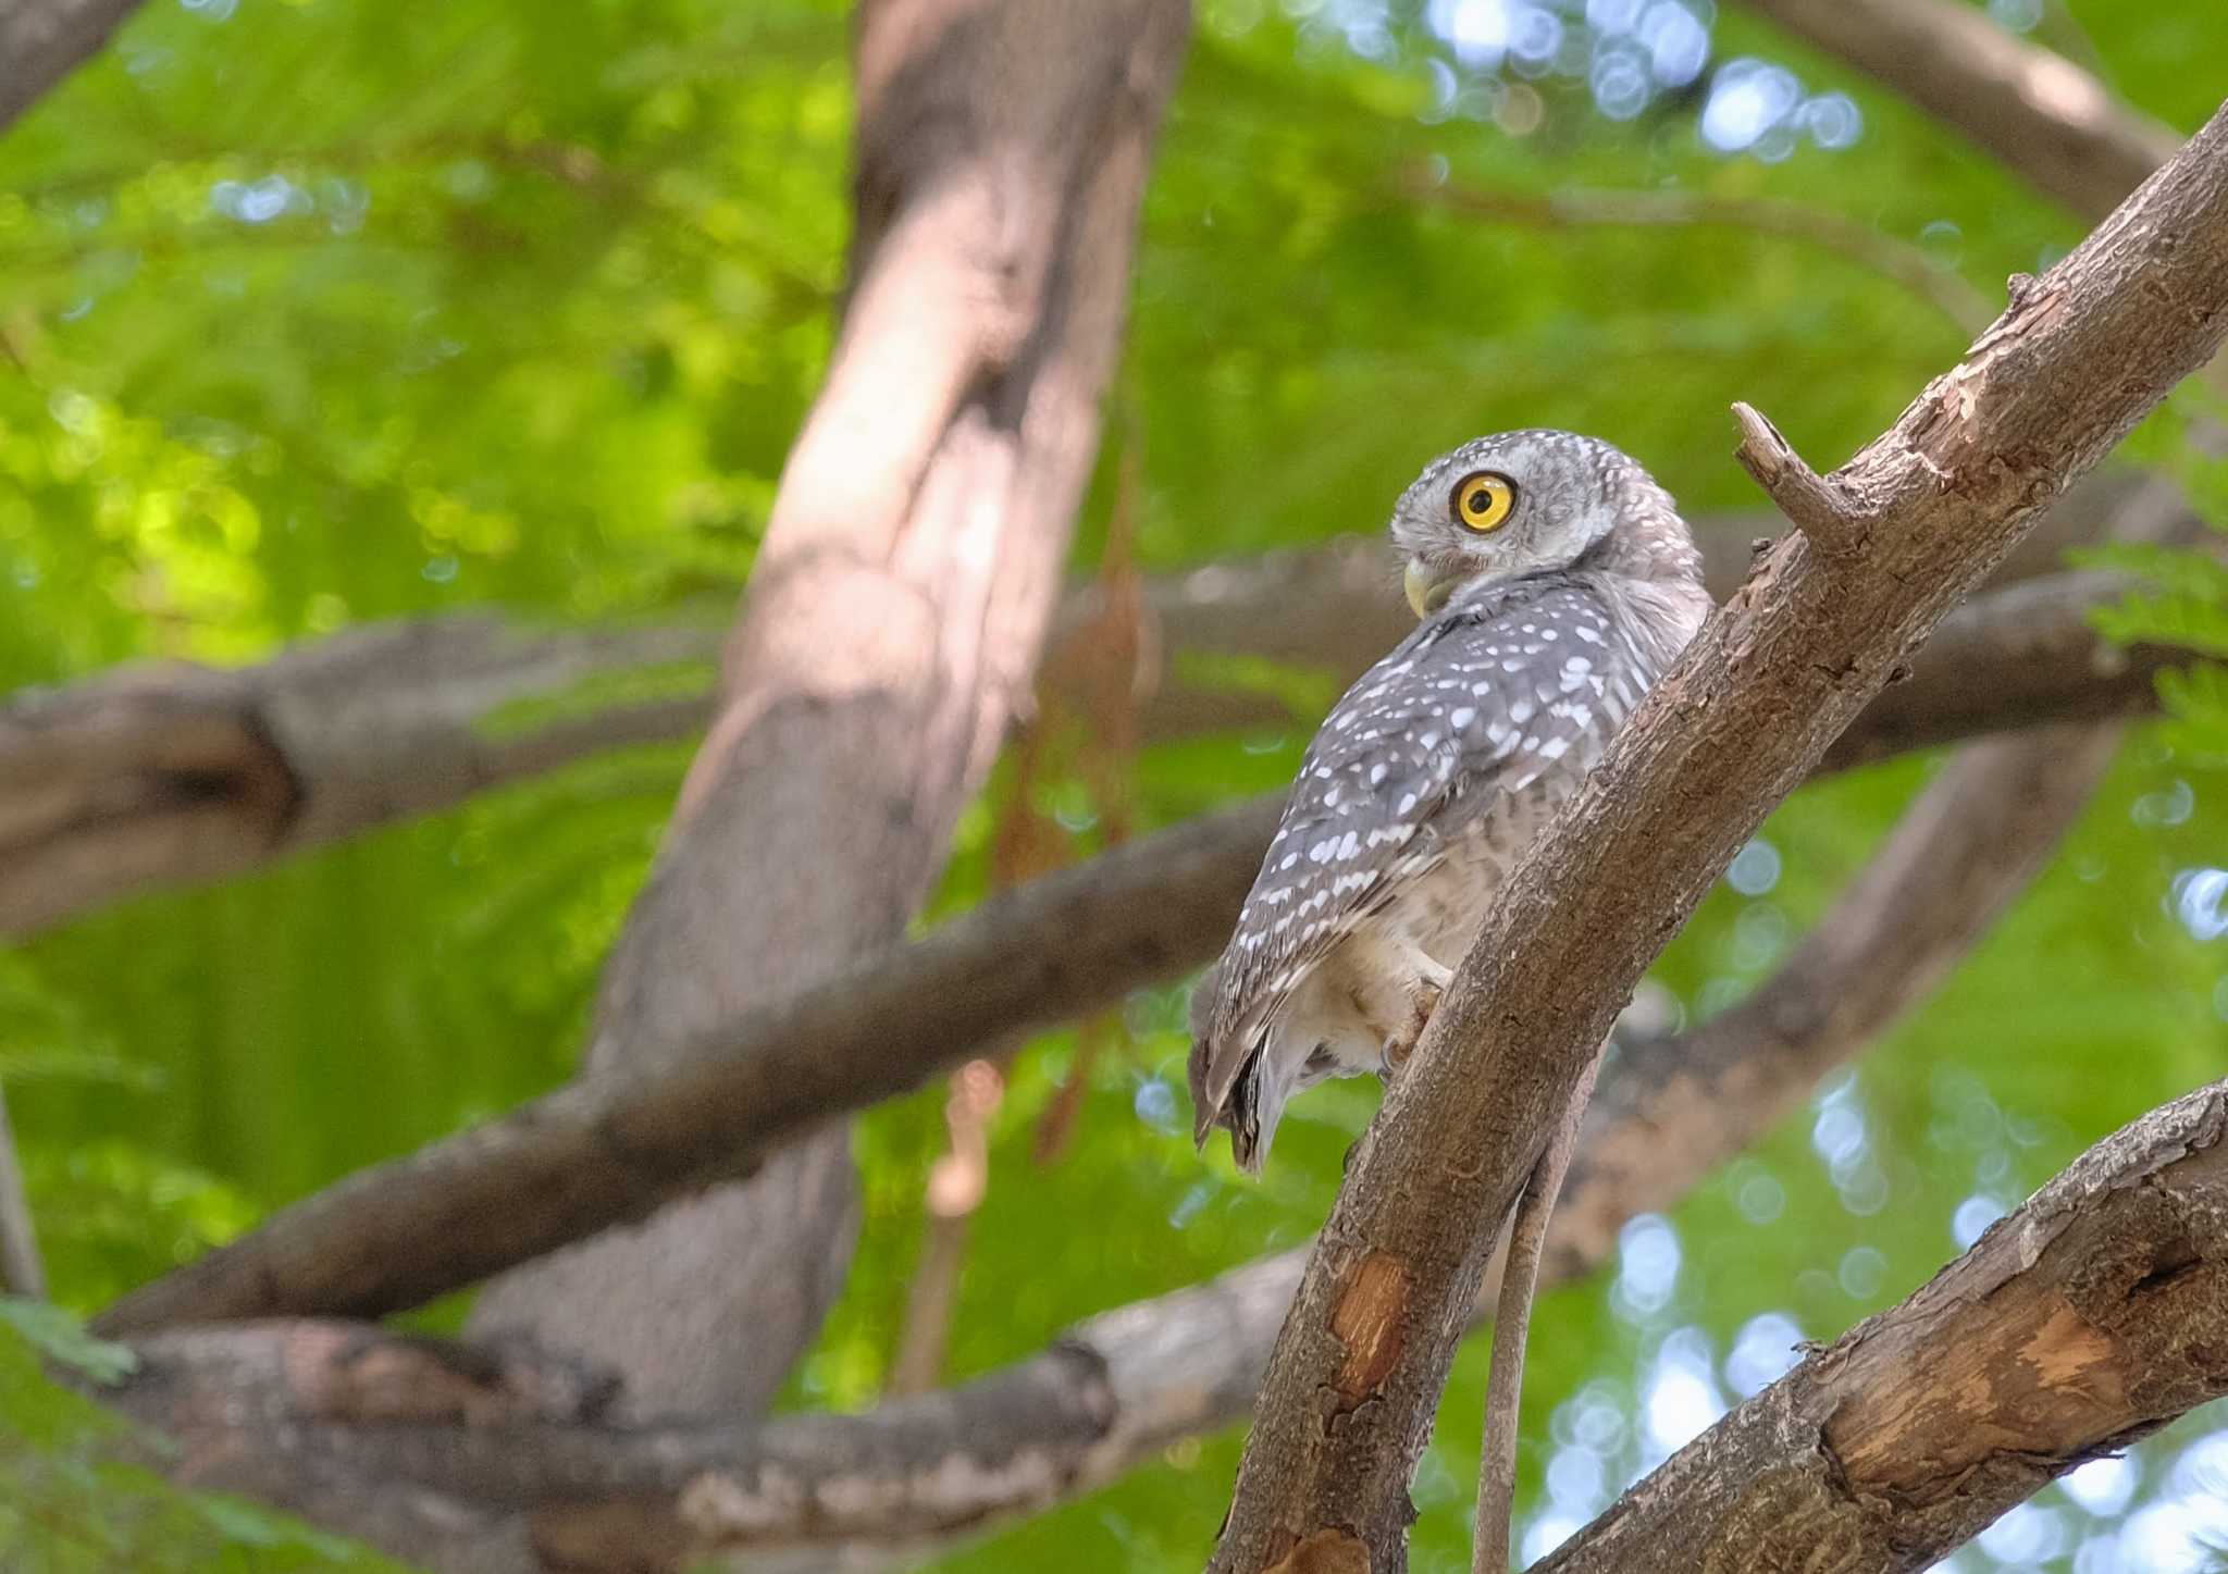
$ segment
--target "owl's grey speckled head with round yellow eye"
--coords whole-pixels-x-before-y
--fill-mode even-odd
[[[1560,568],[1700,581],[1671,494],[1620,450],[1577,432],[1470,439],[1439,454],[1393,508],[1408,603],[1430,617],[1459,590]]]

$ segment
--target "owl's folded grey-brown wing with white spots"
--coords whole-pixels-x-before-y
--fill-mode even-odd
[[[1326,717],[1214,977],[1192,1049],[1199,1135],[1290,991],[1399,882],[1546,770],[1582,770],[1640,699],[1584,583],[1457,601]]]

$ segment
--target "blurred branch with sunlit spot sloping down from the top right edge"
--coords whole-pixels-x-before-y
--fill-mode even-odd
[[[2103,82],[1952,0],[1747,0],[2097,220],[2175,151]]]

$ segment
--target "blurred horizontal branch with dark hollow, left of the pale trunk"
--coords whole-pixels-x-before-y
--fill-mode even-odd
[[[530,632],[443,617],[252,668],[140,666],[25,690],[0,708],[0,935],[686,737],[711,715],[717,652],[709,623]]]

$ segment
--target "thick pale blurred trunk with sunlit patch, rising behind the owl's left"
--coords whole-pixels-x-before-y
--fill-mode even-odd
[[[722,1017],[896,942],[927,895],[1027,701],[1185,33],[1185,0],[860,7],[842,332],[590,1073],[675,1066]],[[824,1127],[749,1187],[492,1285],[472,1322],[626,1371],[646,1411],[755,1411],[842,1282],[853,1193]]]

